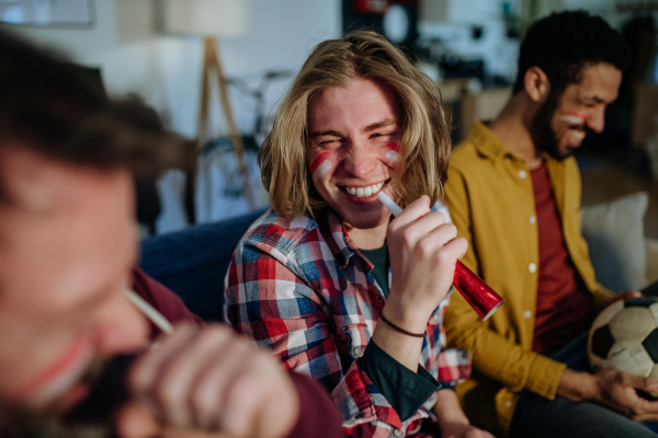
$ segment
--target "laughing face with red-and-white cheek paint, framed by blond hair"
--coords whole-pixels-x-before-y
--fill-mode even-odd
[[[315,96],[308,116],[308,165],[322,199],[358,229],[385,223],[390,214],[376,194],[394,195],[389,183],[401,137],[393,90],[354,79]]]

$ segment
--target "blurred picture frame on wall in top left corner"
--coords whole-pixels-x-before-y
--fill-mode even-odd
[[[0,0],[0,23],[87,28],[94,22],[93,0]]]

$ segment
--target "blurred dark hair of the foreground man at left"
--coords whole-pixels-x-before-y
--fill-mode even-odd
[[[178,164],[181,145],[154,110],[109,99],[83,68],[0,31],[0,153],[27,148],[148,178]]]

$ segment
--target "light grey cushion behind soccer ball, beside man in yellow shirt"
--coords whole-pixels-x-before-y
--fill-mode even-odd
[[[582,208],[582,235],[597,280],[614,292],[646,284],[644,216],[648,195],[638,192]]]

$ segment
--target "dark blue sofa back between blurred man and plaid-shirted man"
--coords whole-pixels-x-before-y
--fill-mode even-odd
[[[265,210],[145,239],[141,268],[206,321],[222,321],[224,277],[247,229]]]

